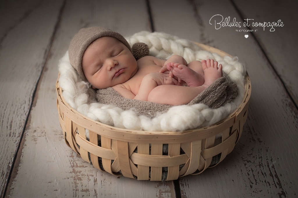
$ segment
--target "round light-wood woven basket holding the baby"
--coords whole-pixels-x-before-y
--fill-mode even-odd
[[[196,44],[220,56],[228,55],[213,47]],[[241,136],[251,95],[251,82],[246,74],[242,103],[220,123],[184,132],[149,132],[94,121],[66,103],[58,80],[56,88],[60,125],[69,147],[99,170],[151,181],[200,174],[222,161]],[[89,140],[85,129],[89,130]],[[219,142],[215,138],[218,136],[221,137]],[[214,158],[218,158],[215,164]]]

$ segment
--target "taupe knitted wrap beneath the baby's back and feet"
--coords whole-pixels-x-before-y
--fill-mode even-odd
[[[237,96],[237,85],[231,81],[223,72],[223,77],[218,78],[214,83],[196,96],[188,105],[203,103],[210,108],[218,108],[228,102],[232,102]],[[97,90],[97,101],[102,104],[111,104],[129,110],[134,108],[139,115],[146,115],[153,118],[157,113],[165,113],[172,105],[159,104],[154,102],[127,99],[122,97],[113,88]]]

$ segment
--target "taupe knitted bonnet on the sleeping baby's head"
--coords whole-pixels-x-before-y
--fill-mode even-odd
[[[69,60],[70,64],[77,70],[82,80],[87,81],[82,70],[82,59],[87,47],[100,37],[114,37],[121,41],[130,51],[131,47],[125,38],[108,28],[104,27],[89,27],[82,28],[75,35],[69,45]]]

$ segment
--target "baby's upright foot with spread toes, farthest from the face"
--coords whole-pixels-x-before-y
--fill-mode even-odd
[[[223,76],[222,65],[213,59],[209,58],[206,60],[202,60],[202,68],[204,70],[204,85],[211,85],[215,80]]]

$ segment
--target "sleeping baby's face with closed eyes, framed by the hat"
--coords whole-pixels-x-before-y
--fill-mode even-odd
[[[114,37],[101,37],[87,47],[82,69],[93,88],[104,89],[126,82],[136,74],[138,67],[122,42]]]

